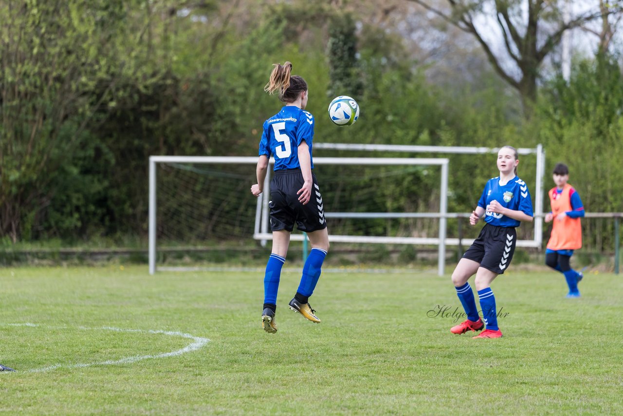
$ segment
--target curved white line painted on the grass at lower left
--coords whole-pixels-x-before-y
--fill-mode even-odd
[[[47,326],[47,325],[32,324],[31,322],[25,322],[23,324],[7,324],[7,325],[8,326],[28,326],[28,327],[48,327],[48,328],[54,328],[54,329],[69,328],[68,326],[52,327],[52,326]],[[118,360],[106,360],[106,361],[87,362],[87,363],[79,363],[79,364],[55,364],[55,365],[49,365],[48,367],[43,367],[40,369],[27,370],[26,372],[45,372],[45,371],[55,370],[60,367],[64,367],[68,369],[78,369],[82,367],[90,367],[92,365],[130,364],[133,362],[146,360],[146,359],[175,357],[175,356],[181,356],[182,354],[186,354],[187,352],[197,351],[201,347],[204,347],[208,342],[210,342],[210,340],[207,338],[196,337],[191,334],[186,334],[185,332],[176,332],[176,331],[156,331],[153,329],[146,329],[146,330],[145,329],[123,329],[123,328],[116,328],[112,326],[102,326],[102,327],[95,327],[95,328],[86,327],[86,326],[77,326],[76,328],[84,329],[87,331],[97,331],[98,329],[103,329],[105,331],[116,331],[116,332],[138,332],[142,334],[163,334],[163,335],[168,335],[172,337],[183,337],[187,339],[192,339],[194,342],[191,342],[191,344],[188,344],[188,346],[182,349],[178,349],[178,350],[170,351],[170,352],[163,352],[161,354],[150,354],[147,356],[133,356],[133,357],[121,358]]]

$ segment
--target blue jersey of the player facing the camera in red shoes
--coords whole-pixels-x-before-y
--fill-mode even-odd
[[[487,205],[496,200],[505,208],[513,211],[522,211],[526,215],[534,216],[532,200],[528,185],[519,177],[508,181],[506,185],[500,185],[500,177],[487,181],[478,206],[485,208],[485,222],[498,227],[517,227],[520,221],[508,218],[508,216],[487,211]]]

